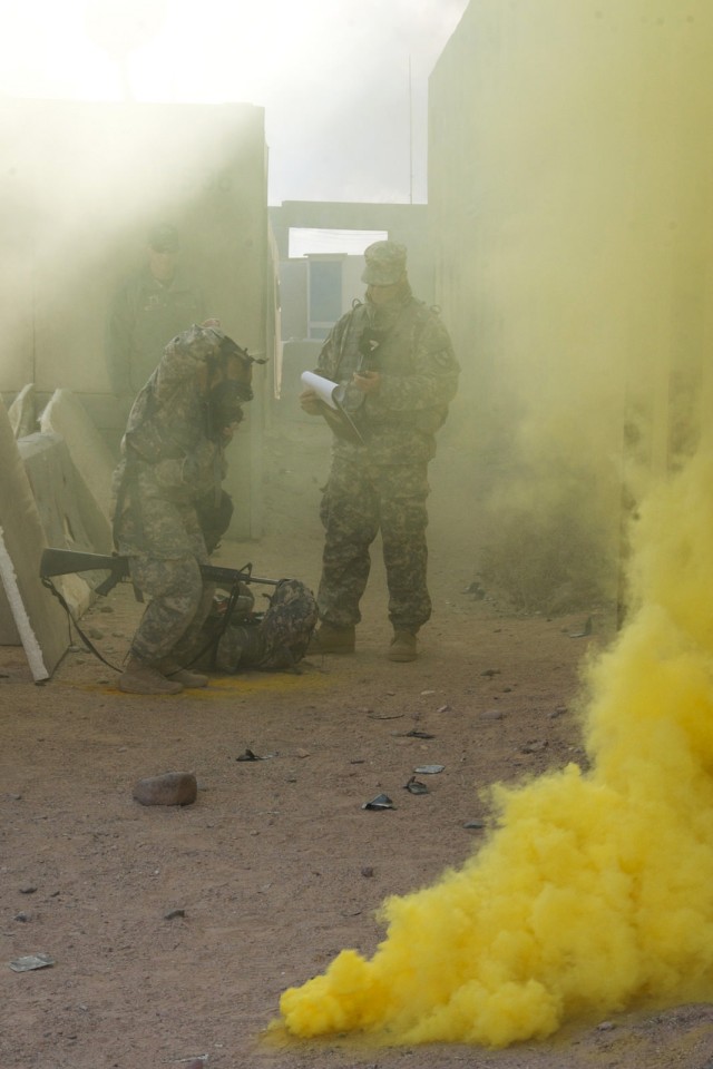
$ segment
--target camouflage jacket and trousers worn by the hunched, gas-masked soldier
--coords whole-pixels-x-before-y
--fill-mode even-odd
[[[201,577],[208,556],[195,503],[219,489],[225,473],[223,449],[205,433],[196,382],[216,351],[215,335],[198,326],[166,346],[134,402],[114,475],[117,549],[150,598],[131,654],[154,667],[180,664],[194,649],[215,592]]]

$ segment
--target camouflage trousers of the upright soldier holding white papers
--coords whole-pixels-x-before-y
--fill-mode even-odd
[[[431,615],[428,492],[426,464],[367,465],[335,458],[320,509],[325,530],[320,619],[333,627],[360,621],[370,546],[381,531],[389,619],[394,627],[413,632],[426,624]]]

